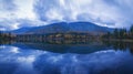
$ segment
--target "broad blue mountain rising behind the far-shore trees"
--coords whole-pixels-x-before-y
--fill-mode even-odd
[[[113,29],[100,27],[91,22],[59,22],[43,27],[22,28],[12,33],[17,34],[45,34],[45,33],[64,33],[64,32],[91,32],[91,33],[105,33],[113,31]]]

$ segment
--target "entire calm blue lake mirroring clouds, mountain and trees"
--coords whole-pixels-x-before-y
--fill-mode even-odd
[[[133,74],[133,43],[0,45],[0,74]]]

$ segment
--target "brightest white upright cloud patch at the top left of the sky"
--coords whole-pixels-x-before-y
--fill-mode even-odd
[[[18,6],[18,11],[16,12],[17,18],[21,19],[30,19],[35,20],[35,15],[33,12],[33,2],[34,0],[16,0],[16,4]]]

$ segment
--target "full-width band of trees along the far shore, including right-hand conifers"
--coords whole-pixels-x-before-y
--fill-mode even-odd
[[[92,33],[48,33],[48,34],[12,34],[0,32],[1,41],[47,41],[47,40],[132,40],[133,39],[133,25],[126,29],[114,29],[113,32],[106,32],[104,34],[94,35]]]

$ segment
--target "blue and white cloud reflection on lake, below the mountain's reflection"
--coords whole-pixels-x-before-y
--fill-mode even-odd
[[[133,66],[130,65],[133,57],[129,51],[108,50],[90,54],[60,54],[8,45],[0,49],[0,64],[10,64],[12,68],[11,64],[16,64],[18,68],[13,74],[101,74],[103,71],[114,71],[116,73],[113,74],[120,74],[121,72],[116,70],[122,71],[121,66],[126,67],[126,73],[133,73],[131,70]],[[4,64],[0,67],[0,72],[4,70],[2,67]],[[6,68],[6,71],[9,70]]]

